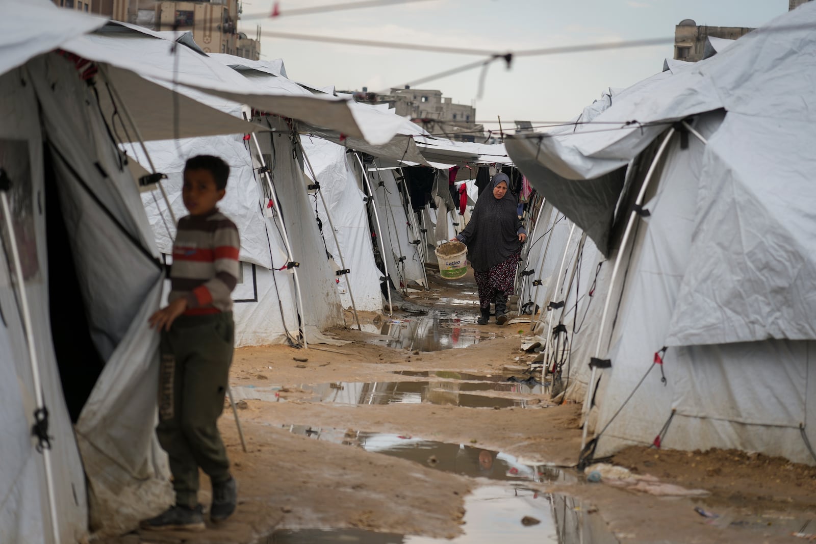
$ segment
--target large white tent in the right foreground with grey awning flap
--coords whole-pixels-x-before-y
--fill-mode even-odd
[[[508,140],[610,255],[609,306],[593,303],[573,354],[584,376],[588,356],[600,367],[585,406],[596,454],[660,437],[814,462],[812,24],[805,5],[619,93],[595,121],[636,119],[622,130]]]

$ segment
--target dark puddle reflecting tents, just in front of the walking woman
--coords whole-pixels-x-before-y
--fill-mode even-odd
[[[477,328],[476,315],[430,312],[426,316],[386,321],[379,333],[388,338],[377,338],[372,343],[396,349],[438,352],[472,346],[495,334]]]

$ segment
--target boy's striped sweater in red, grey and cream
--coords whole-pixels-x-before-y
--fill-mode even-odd
[[[186,297],[186,315],[232,312],[240,249],[235,223],[217,209],[210,215],[179,219],[169,302]]]

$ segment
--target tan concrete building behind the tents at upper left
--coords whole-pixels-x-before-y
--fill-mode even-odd
[[[192,32],[206,53],[228,53],[260,59],[260,28],[255,38],[237,31],[242,7],[239,0],[53,0],[59,6],[151,30]]]

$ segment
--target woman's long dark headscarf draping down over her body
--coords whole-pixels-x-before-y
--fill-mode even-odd
[[[498,199],[493,196],[493,189],[502,182],[508,190]],[[476,201],[468,226],[459,233],[459,240],[468,245],[468,260],[476,272],[485,272],[516,253],[520,245],[518,233],[524,232],[508,176],[500,172],[494,175],[488,189]]]

